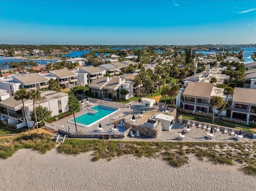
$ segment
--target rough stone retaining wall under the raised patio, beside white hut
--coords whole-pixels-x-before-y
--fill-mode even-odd
[[[132,127],[132,132],[133,133],[137,133],[137,130],[139,130],[140,135],[145,135],[145,136],[153,137],[153,138],[159,137],[160,134],[162,133],[162,126],[161,125],[157,129],[150,129],[150,128],[146,128],[146,127],[141,127],[141,126],[136,125],[136,124],[128,123],[128,122],[124,123],[124,128],[125,129],[129,129],[130,127]]]

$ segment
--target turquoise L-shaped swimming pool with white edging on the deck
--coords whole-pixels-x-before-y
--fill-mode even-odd
[[[92,110],[92,112],[86,112],[82,115],[76,117],[76,124],[82,127],[89,127],[101,119],[106,118],[110,114],[119,110],[116,107],[110,107],[105,105],[96,105],[88,108],[88,110]],[[68,120],[69,123],[75,124],[74,118]]]

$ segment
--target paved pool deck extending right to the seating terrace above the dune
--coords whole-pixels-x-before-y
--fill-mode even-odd
[[[128,112],[131,111],[131,109],[136,109],[135,111],[133,111],[131,114],[126,115],[123,117],[123,119],[127,118],[127,117],[131,117],[133,115],[137,116],[140,114],[141,110],[143,112],[144,118],[142,119],[138,119],[136,118],[136,122],[135,124],[143,124],[144,121],[146,121],[147,119],[149,119],[152,115],[154,115],[155,113],[162,113],[161,110],[155,109],[155,108],[148,108],[148,107],[141,107],[141,106],[132,106],[132,108],[120,108],[119,111],[115,112],[113,115],[111,115],[111,119],[121,113],[124,112]],[[88,110],[88,107],[83,107],[83,110],[79,113],[76,113],[76,116],[81,115]],[[64,128],[67,129],[67,126],[70,126],[70,130],[71,131],[75,131],[75,125],[71,124],[69,122],[67,122],[68,120],[72,119],[73,115],[68,116],[64,119],[60,119],[58,121],[55,121],[54,125],[58,126],[58,127],[62,127],[62,125],[64,125]],[[114,126],[113,124],[113,120],[111,120],[109,117],[100,120],[99,122],[95,123],[94,125],[90,126],[90,127],[81,127],[81,126],[77,126],[78,130],[82,130],[82,131],[97,131],[97,127],[99,126],[99,123],[101,123],[104,132],[109,132],[111,131],[111,128]],[[119,118],[120,119],[120,118]],[[109,125],[109,122],[112,122],[111,125]],[[116,124],[117,125],[117,124]],[[177,117],[174,119],[174,123],[173,123],[173,127],[172,129],[170,129],[170,131],[165,131],[163,130],[161,135],[158,138],[151,138],[151,137],[146,137],[141,135],[140,138],[131,138],[130,136],[127,136],[125,138],[120,138],[120,139],[110,139],[110,140],[120,140],[120,141],[147,141],[147,142],[172,142],[172,141],[179,141],[178,140],[178,136],[179,133],[182,133],[182,129],[186,129],[186,123],[179,123],[177,121]],[[185,135],[185,139],[182,140],[184,142],[252,142],[252,141],[256,141],[256,139],[252,139],[250,137],[246,137],[244,136],[244,138],[242,138],[241,140],[237,141],[234,139],[234,135],[231,134],[227,134],[224,133],[222,131],[215,131],[213,132],[213,134],[215,134],[215,137],[212,139],[209,139],[207,137],[207,132],[210,133],[210,130],[206,130],[206,129],[202,129],[202,128],[198,128],[198,127],[191,127],[191,132],[184,134]],[[124,132],[125,129],[124,128],[119,128],[119,132]],[[87,138],[80,138],[80,139],[87,139]],[[89,140],[92,138],[88,138]]]

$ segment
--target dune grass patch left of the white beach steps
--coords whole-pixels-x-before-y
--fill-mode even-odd
[[[42,134],[29,134],[15,138],[1,139],[0,141],[0,157],[9,158],[19,149],[34,149],[41,153],[46,153],[48,150],[55,148],[56,143],[51,139],[50,135]]]

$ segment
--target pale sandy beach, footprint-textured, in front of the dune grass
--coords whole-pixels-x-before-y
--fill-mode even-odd
[[[21,149],[0,160],[0,189],[11,190],[253,190],[255,177],[235,166],[201,162],[173,168],[159,158],[125,156],[91,161],[91,153],[40,154]]]

